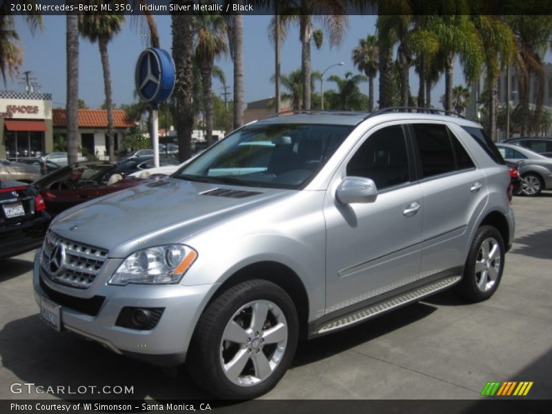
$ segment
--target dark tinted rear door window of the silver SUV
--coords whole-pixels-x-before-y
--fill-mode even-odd
[[[422,177],[456,170],[449,132],[444,125],[413,124],[422,161]]]

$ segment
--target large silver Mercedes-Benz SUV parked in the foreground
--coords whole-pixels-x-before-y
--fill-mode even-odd
[[[488,299],[513,238],[508,168],[479,125],[433,112],[262,119],[67,210],[34,262],[43,319],[249,398],[300,338],[453,286]]]

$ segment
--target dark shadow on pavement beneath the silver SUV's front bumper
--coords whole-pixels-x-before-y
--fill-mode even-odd
[[[17,377],[15,382],[32,383],[44,389],[52,386],[53,394],[62,400],[210,398],[184,370],[177,375],[168,375],[163,368],[117,355],[68,331],[57,333],[46,326],[39,315],[18,319],[3,327],[0,331],[0,358],[3,368]],[[58,386],[65,387],[63,392],[58,392]],[[69,393],[68,386],[72,393]],[[106,386],[109,388],[104,389]],[[132,393],[115,394],[113,391],[119,391],[115,386],[132,387]],[[15,395],[9,388],[10,384],[7,384],[2,393],[8,395],[1,398],[29,398],[27,388]],[[79,390],[86,391],[80,393]]]

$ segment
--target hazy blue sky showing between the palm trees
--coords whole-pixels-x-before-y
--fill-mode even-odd
[[[332,82],[326,79],[331,75],[344,77],[351,71],[358,73],[353,66],[351,53],[357,46],[359,39],[367,34],[375,34],[376,16],[350,16],[348,29],[341,46],[330,48],[328,42],[317,50],[311,48],[312,70],[322,72],[328,66],[343,61],[344,66],[335,66],[326,72],[324,90],[333,88]],[[155,20],[159,28],[161,48],[170,52],[172,39],[170,16],[156,15]],[[273,97],[274,83],[270,76],[274,73],[274,47],[268,39],[268,22],[270,16],[244,16],[244,97],[246,103]],[[54,108],[66,105],[66,17],[44,16],[44,28],[34,36],[30,33],[22,17],[16,17],[16,29],[20,43],[25,50],[21,74],[32,71],[32,77],[37,79],[44,93],[52,94]],[[137,101],[134,92],[134,70],[140,52],[148,47],[141,24],[137,17],[127,17],[123,30],[117,34],[108,46],[110,53],[110,69],[112,76],[113,101],[132,103]],[[86,39],[79,39],[79,98],[83,99],[89,108],[99,108],[105,100],[103,92],[103,72],[97,43],[90,43]],[[233,86],[233,64],[230,57],[222,57],[216,62],[224,70],[227,85]],[[301,43],[297,27],[289,30],[286,40],[282,44],[282,73],[286,74],[301,67]],[[24,86],[19,84],[21,79],[8,79],[7,90],[22,91]],[[377,79],[375,81],[375,95],[377,99]],[[455,65],[453,84],[465,85],[462,72],[458,64]],[[411,90],[417,92],[417,77],[411,70]],[[3,88],[3,85],[0,86]],[[319,83],[315,85],[319,90]],[[360,85],[362,92],[368,94],[368,83]],[[230,92],[232,88],[229,89]],[[214,81],[213,92],[219,96],[223,92],[221,83]],[[435,86],[432,94],[432,103],[439,106],[439,97],[444,94],[444,80],[441,79]],[[232,99],[230,95],[229,99]]]

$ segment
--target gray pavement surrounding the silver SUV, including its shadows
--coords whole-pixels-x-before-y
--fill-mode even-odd
[[[487,382],[525,381],[533,386],[524,398],[549,399],[552,192],[515,197],[513,210],[514,244],[491,299],[467,304],[445,292],[302,342],[292,368],[262,398],[482,400],[491,398],[480,395]],[[46,326],[31,286],[33,255],[0,261],[0,400],[210,397],[185,371],[136,362]]]

